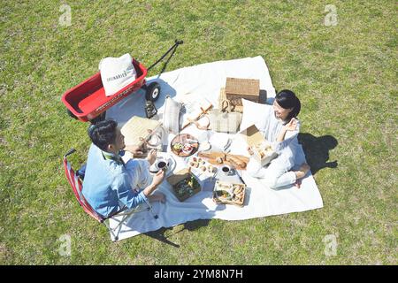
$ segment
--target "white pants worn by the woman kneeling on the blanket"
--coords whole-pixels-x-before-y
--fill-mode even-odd
[[[278,188],[295,183],[295,172],[289,171],[293,166],[292,152],[287,149],[267,167],[263,167],[254,157],[250,157],[247,172],[252,177],[264,180],[269,187]]]

